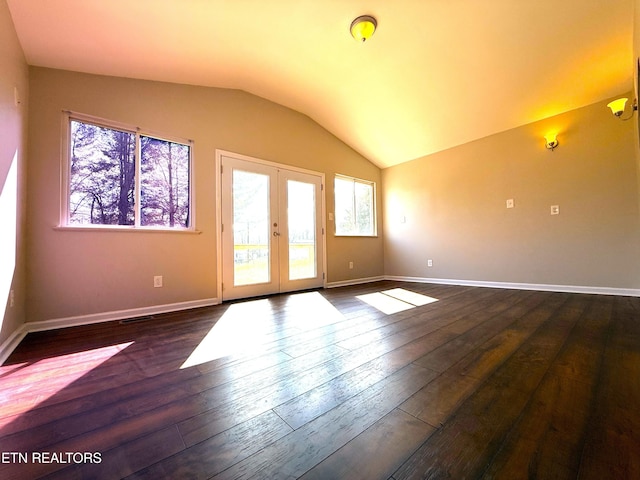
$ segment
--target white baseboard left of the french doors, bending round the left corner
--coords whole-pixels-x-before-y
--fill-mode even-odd
[[[203,300],[192,300],[189,302],[168,303],[165,305],[155,305],[151,307],[131,308],[128,310],[116,310],[113,312],[94,313],[90,315],[79,315],[76,317],[54,318],[39,322],[27,322],[18,327],[0,345],[0,365],[2,365],[11,352],[30,332],[41,332],[45,330],[55,330],[57,328],[77,327],[80,325],[90,325],[93,323],[111,322],[114,320],[125,320],[127,318],[146,317],[148,315],[159,315],[161,313],[177,312],[180,310],[190,310],[192,308],[210,307],[218,305],[217,298],[205,298]]]

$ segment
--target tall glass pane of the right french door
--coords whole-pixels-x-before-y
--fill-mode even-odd
[[[316,277],[315,185],[287,180],[289,280]]]

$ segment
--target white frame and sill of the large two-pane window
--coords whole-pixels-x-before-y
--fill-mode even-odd
[[[105,120],[103,118],[86,115],[83,113],[63,111],[62,112],[62,142],[61,142],[61,202],[60,202],[60,223],[58,228],[69,230],[119,230],[119,231],[161,231],[161,232],[197,232],[195,217],[195,195],[194,195],[194,142],[193,140],[179,138],[175,136],[158,134],[149,130],[141,129],[124,123]],[[134,225],[102,225],[102,224],[70,224],[69,213],[70,206],[70,184],[71,184],[71,122],[73,120],[88,123],[98,127],[120,130],[131,133],[136,136],[136,173],[135,173],[135,189],[134,189]],[[162,227],[162,226],[143,226],[140,224],[140,174],[141,174],[141,140],[140,137],[151,137],[154,139],[179,143],[189,146],[189,226],[188,227]]]

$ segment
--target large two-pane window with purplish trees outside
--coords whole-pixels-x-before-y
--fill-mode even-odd
[[[189,142],[157,138],[106,122],[68,119],[64,224],[191,226]]]

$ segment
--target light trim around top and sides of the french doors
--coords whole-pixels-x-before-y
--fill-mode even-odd
[[[241,153],[229,152],[227,150],[216,149],[216,164],[215,164],[215,187],[216,187],[216,296],[219,299],[222,299],[222,157],[231,157],[238,160],[244,160],[246,162],[253,162],[261,165],[267,165],[275,168],[281,168],[284,170],[291,170],[293,172],[306,173],[308,175],[319,176],[322,183],[322,188],[320,190],[321,199],[320,199],[320,222],[322,227],[322,235],[321,241],[318,242],[318,245],[322,248],[322,285],[323,288],[327,287],[327,225],[326,225],[326,197],[325,197],[325,175],[322,172],[317,172],[315,170],[308,170],[305,168],[294,167],[292,165],[286,165],[284,163],[271,162],[269,160],[263,160],[261,158],[250,157],[248,155],[243,155]]]

